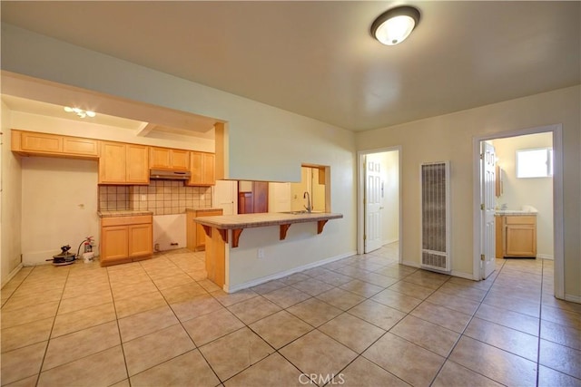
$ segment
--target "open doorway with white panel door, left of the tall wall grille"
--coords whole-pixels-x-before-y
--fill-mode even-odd
[[[401,262],[401,149],[359,152],[358,254],[398,242]]]

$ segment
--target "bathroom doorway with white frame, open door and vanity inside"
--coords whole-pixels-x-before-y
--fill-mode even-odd
[[[536,227],[534,231],[530,225],[515,226],[518,249],[522,253],[520,255],[554,259],[554,291],[557,298],[563,298],[565,289],[561,136],[559,124],[475,138],[473,279],[484,279],[492,274],[496,269],[497,257],[515,254],[514,251],[507,252],[507,248],[510,247],[507,245],[506,231],[509,229],[504,226],[506,219],[501,218],[502,214],[514,213],[521,220],[534,217],[531,218],[531,224]],[[552,150],[550,153],[547,152],[547,155],[552,155],[552,160],[547,160],[547,170],[550,168],[551,173],[554,171],[552,178],[517,177],[517,153],[519,150],[532,149]],[[483,158],[481,154],[484,155]],[[487,154],[494,158],[492,173],[496,184],[487,184],[489,179],[486,179],[486,175],[490,173],[487,170],[491,170],[485,165]],[[492,218],[488,215],[490,212]],[[521,215],[524,217],[520,217]],[[504,223],[498,225],[498,222]],[[497,246],[498,244],[501,246]],[[525,248],[528,245],[531,247]]]

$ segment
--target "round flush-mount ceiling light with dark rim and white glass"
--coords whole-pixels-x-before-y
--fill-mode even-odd
[[[371,34],[379,42],[395,45],[403,42],[419,24],[419,10],[403,5],[379,15],[371,24]]]

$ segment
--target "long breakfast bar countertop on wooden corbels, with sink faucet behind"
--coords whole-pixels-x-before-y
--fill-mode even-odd
[[[218,229],[239,229],[251,227],[267,227],[289,225],[293,223],[317,222],[321,220],[343,218],[343,214],[329,212],[282,213],[265,212],[260,214],[221,215],[215,217],[195,218],[202,226]]]

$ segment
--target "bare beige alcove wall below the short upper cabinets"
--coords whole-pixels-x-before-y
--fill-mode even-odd
[[[22,158],[22,203],[25,265],[45,264],[64,245],[76,254],[84,237],[99,243],[96,161]]]

